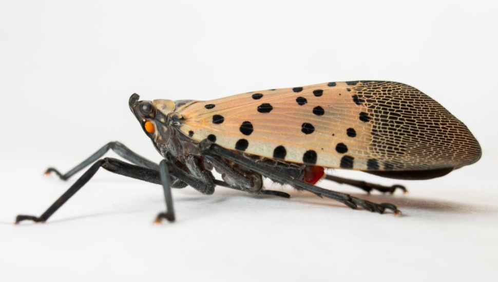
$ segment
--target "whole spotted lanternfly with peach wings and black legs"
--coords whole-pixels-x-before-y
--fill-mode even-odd
[[[327,178],[367,192],[396,188],[327,175],[324,168],[349,169],[394,179],[431,179],[473,164],[481,147],[469,129],[426,94],[405,84],[359,80],[249,92],[225,98],[139,101],[129,107],[163,156],[155,164],[118,142],[111,142],[62,179],[95,162],[40,217],[19,215],[16,222],[47,220],[100,167],[163,186],[166,212],[157,221],[175,220],[170,188],[187,185],[203,194],[224,186],[254,194],[289,197],[266,190],[263,177],[338,200],[356,209],[398,213],[315,186]],[[98,160],[108,149],[127,159]],[[223,179],[216,179],[215,169]]]

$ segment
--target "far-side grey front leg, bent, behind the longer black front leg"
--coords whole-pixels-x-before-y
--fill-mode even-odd
[[[74,167],[70,171],[68,171],[66,174],[60,173],[58,170],[55,168],[48,168],[45,174],[49,174],[50,172],[54,172],[57,174],[61,179],[67,180],[69,177],[74,175],[75,173],[79,172],[80,170],[84,169],[85,167],[89,166],[95,160],[99,159],[102,157],[107,151],[111,149],[112,151],[116,152],[118,155],[123,157],[124,159],[128,160],[132,164],[135,164],[137,166],[141,167],[146,167],[150,169],[159,169],[159,165],[151,162],[150,160],[140,156],[139,154],[131,151],[128,147],[124,146],[123,144],[114,141],[114,142],[109,142],[104,147],[100,148],[97,152],[95,152],[93,155],[85,159],[81,164],[78,166]]]

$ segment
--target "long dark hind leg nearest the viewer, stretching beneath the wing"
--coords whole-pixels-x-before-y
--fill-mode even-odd
[[[244,158],[243,156],[236,154],[230,150],[227,150],[223,147],[220,147],[216,144],[213,144],[209,141],[203,140],[199,144],[199,148],[201,150],[201,153],[204,156],[213,156],[213,155],[218,155],[221,157],[224,157],[226,159],[231,160],[234,163],[237,163],[241,166],[246,167],[247,169],[253,170],[257,173],[260,173],[263,176],[266,176],[276,182],[282,183],[282,184],[288,184],[296,189],[300,190],[307,190],[310,191],[318,196],[325,196],[328,198],[332,198],[337,200],[338,202],[341,202],[348,207],[352,209],[356,209],[358,206],[368,210],[368,211],[375,211],[378,213],[384,213],[386,209],[392,210],[395,214],[399,213],[398,209],[396,206],[388,203],[382,203],[382,204],[375,204],[372,202],[369,202],[367,200],[363,200],[360,198],[353,197],[348,194],[340,193],[340,192],[335,192],[327,189],[323,189],[308,183],[301,182],[299,180],[293,179],[291,177],[286,176],[285,174],[282,174],[278,171],[275,171],[273,169],[267,168],[265,166],[262,166],[258,163],[253,162],[250,159]]]

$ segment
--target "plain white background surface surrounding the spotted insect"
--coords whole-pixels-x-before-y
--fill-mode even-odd
[[[496,279],[497,4],[2,1],[0,280]],[[175,190],[177,222],[154,225],[161,188],[103,170],[46,224],[12,224],[76,179],[44,177],[47,166],[67,171],[111,140],[161,159],[128,109],[133,92],[212,99],[358,79],[427,93],[483,158],[423,182],[334,172],[405,195],[321,183],[400,217],[269,185],[292,198]]]

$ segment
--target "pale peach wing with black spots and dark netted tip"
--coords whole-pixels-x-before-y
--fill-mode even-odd
[[[263,90],[191,104],[180,130],[287,162],[354,170],[428,170],[476,162],[467,127],[408,85],[355,81]]]

